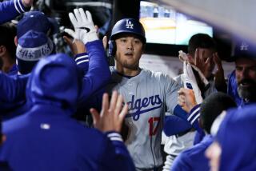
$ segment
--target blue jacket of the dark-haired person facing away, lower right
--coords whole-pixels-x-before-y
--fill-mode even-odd
[[[171,170],[210,170],[205,151],[213,141],[211,135],[206,135],[200,143],[180,153],[175,158]]]

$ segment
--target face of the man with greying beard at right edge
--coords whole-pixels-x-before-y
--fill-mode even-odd
[[[250,58],[238,58],[235,62],[235,74],[238,94],[246,100],[256,100],[256,61]]]

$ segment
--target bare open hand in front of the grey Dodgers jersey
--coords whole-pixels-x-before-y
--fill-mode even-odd
[[[123,106],[122,101],[122,95],[118,95],[117,91],[112,93],[110,103],[108,94],[104,93],[101,113],[98,113],[96,109],[90,109],[90,113],[94,119],[94,127],[102,132],[120,132],[122,122],[128,112],[128,105]]]

